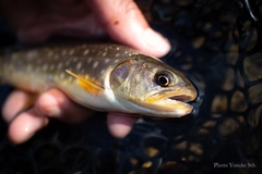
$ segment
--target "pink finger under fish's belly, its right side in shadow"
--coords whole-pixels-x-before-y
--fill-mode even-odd
[[[78,123],[94,114],[93,110],[76,104],[58,89],[49,89],[36,101],[38,114],[58,119],[67,123]]]

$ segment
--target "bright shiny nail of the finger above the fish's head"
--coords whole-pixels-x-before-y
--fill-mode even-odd
[[[144,32],[143,39],[146,42],[151,49],[154,49],[155,51],[159,52],[160,54],[166,54],[170,51],[171,46],[169,41],[163,37],[159,33],[156,33],[155,30],[147,28]]]

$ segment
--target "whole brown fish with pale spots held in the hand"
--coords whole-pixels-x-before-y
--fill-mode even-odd
[[[97,111],[154,117],[188,115],[198,97],[194,85],[178,70],[115,44],[8,50],[0,55],[0,79],[33,94],[55,87]]]

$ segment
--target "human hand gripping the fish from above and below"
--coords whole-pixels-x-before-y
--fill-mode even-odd
[[[53,35],[74,38],[109,35],[118,42],[154,57],[162,57],[170,49],[168,41],[148,26],[132,0],[2,0],[0,7],[24,42],[43,42]],[[3,105],[4,120],[10,123],[9,137],[15,144],[31,138],[48,124],[49,117],[75,123],[94,114],[72,102],[62,91],[49,89],[37,98],[33,109],[16,115],[28,98],[27,92],[15,90]],[[109,112],[109,132],[122,138],[136,119]]]

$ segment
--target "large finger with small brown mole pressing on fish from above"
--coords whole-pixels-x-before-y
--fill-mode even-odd
[[[100,17],[112,39],[154,57],[163,57],[170,50],[168,40],[148,26],[132,0],[92,2],[94,12]]]

